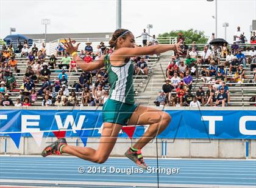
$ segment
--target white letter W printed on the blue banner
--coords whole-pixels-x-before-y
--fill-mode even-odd
[[[76,130],[81,130],[82,129],[84,119],[85,119],[85,115],[80,115],[79,116],[77,126],[76,126],[76,123],[74,123],[73,115],[66,116],[66,121],[64,123],[64,126],[62,124],[62,119],[60,118],[60,115],[55,115],[55,119],[56,119],[57,126],[58,126],[59,130],[68,129],[68,125],[70,123],[71,127],[72,127],[72,130],[73,130],[73,133],[76,133]]]

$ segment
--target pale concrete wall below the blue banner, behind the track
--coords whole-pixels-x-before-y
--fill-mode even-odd
[[[0,154],[40,155],[44,147],[48,146],[56,138],[43,138],[41,146],[37,146],[34,138],[21,138],[20,148],[17,149],[9,137],[0,138]],[[78,138],[79,139],[79,138]],[[69,145],[84,147],[81,141],[77,144],[77,138],[67,138]],[[136,139],[118,138],[111,156],[124,156],[124,152],[135,143]],[[163,155],[168,158],[246,158],[246,143],[241,139],[166,139],[164,140]],[[99,138],[88,138],[87,146],[96,149]],[[158,156],[162,156],[162,140],[158,139]],[[155,140],[143,148],[143,155],[157,156]],[[249,140],[249,158],[256,158],[256,140]]]

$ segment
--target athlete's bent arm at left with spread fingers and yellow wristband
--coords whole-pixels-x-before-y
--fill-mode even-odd
[[[95,70],[95,69],[101,69],[102,67],[104,67],[105,56],[101,56],[101,58],[99,58],[97,61],[94,61],[92,63],[86,63],[83,59],[81,59],[79,57],[79,55],[77,53],[74,53],[74,52],[77,52],[79,44],[80,43],[78,43],[76,46],[73,46],[70,38],[69,38],[69,42],[66,41],[66,39],[65,39],[65,43],[63,43],[63,45],[65,46],[65,49],[68,51],[68,53],[70,55],[73,56],[74,61],[76,61],[77,65],[79,65],[79,67],[82,70],[91,71],[91,70]]]

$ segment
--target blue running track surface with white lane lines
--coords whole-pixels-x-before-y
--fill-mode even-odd
[[[94,164],[73,157],[0,157],[2,185],[157,186],[157,173],[134,171],[127,175],[127,172],[129,173],[127,169],[138,170],[138,168],[126,158],[110,158],[104,164]],[[159,173],[160,187],[256,187],[255,160],[158,159],[158,161],[159,167],[163,170]],[[156,159],[146,159],[146,163],[156,168]],[[164,172],[168,168],[176,168],[176,173],[168,175],[168,172]],[[83,170],[85,172],[79,173],[78,169],[80,172]],[[88,172],[90,169],[91,173]],[[110,172],[113,169],[122,169],[126,172]],[[96,172],[94,173],[93,170]]]

